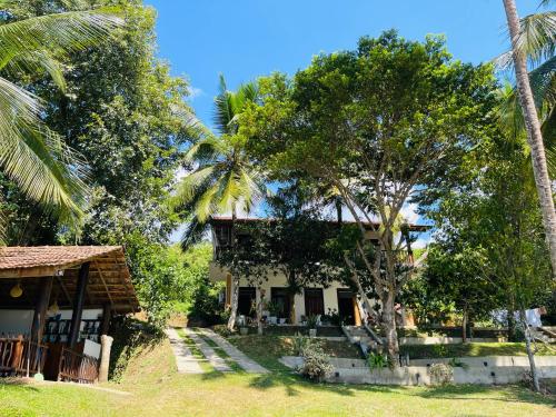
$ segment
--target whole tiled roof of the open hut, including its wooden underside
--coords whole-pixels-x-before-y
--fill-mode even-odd
[[[0,300],[6,307],[32,306],[39,279],[54,277],[52,295],[60,307],[71,307],[77,276],[90,262],[86,307],[111,305],[119,312],[139,310],[137,295],[121,246],[36,246],[0,248]],[[31,279],[36,278],[36,279]],[[13,281],[21,279],[23,296],[8,296]]]

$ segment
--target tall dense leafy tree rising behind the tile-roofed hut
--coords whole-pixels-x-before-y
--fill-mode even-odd
[[[162,245],[179,221],[167,200],[185,148],[196,135],[185,101],[188,82],[172,77],[169,66],[156,57],[153,9],[140,0],[92,3],[118,4],[126,26],[101,47],[61,57],[64,92],[47,75],[26,80],[28,89],[44,100],[46,123],[88,162],[91,192],[80,236],[76,239],[52,224],[48,212],[30,205],[19,187],[3,178],[7,235],[19,245],[126,245],[141,305],[156,319],[170,297],[157,289],[180,279],[179,269],[167,268]],[[16,18],[80,8],[76,1],[51,0],[20,6]],[[156,262],[157,252],[162,266]],[[160,297],[151,299],[155,292]]]

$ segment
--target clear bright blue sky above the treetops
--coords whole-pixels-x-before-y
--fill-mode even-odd
[[[395,28],[408,39],[444,33],[475,63],[507,48],[502,0],[146,0],[158,11],[159,56],[190,80],[191,105],[210,126],[218,75],[228,87],[272,71],[295,73],[319,52],[354,49]],[[538,0],[517,0],[520,14]]]

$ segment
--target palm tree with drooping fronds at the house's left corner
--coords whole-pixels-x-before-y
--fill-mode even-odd
[[[236,92],[228,91],[220,76],[220,92],[215,100],[215,125],[219,136],[200,128],[201,138],[186,155],[197,168],[178,186],[176,205],[191,219],[182,237],[182,247],[189,246],[206,229],[207,220],[217,214],[231,214],[231,250],[236,246],[238,208],[250,211],[265,192],[262,172],[246,151],[247,138],[239,133],[239,115],[256,103],[255,82],[242,85]],[[234,291],[228,328],[234,329],[239,296],[239,276],[232,277]]]

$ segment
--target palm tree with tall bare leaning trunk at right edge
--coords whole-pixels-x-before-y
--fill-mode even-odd
[[[537,59],[539,57],[538,53],[554,54],[556,18],[554,13],[550,13],[545,19],[532,18],[528,20],[528,23],[537,22],[538,24],[523,24],[517,14],[515,0],[503,0],[503,2],[512,39],[512,56],[516,73],[517,92],[527,131],[533,160],[533,172],[540,201],[554,275],[556,274],[556,214],[554,210],[553,191],[548,176],[540,121],[527,72],[527,54],[532,56],[532,51],[536,51],[535,53],[537,54],[533,54],[533,58]],[[544,0],[542,3],[547,4],[549,0]]]

